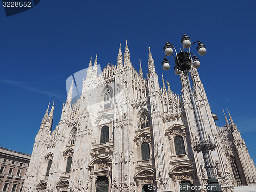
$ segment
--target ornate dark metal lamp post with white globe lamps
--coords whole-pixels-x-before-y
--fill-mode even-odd
[[[207,176],[208,176],[207,191],[208,192],[217,192],[217,191],[219,192],[219,191],[222,191],[222,189],[221,189],[220,184],[218,183],[218,179],[215,178],[214,165],[212,164],[210,154],[209,154],[209,150],[213,150],[216,147],[216,144],[208,141],[204,137],[203,129],[202,129],[202,126],[200,123],[199,114],[197,111],[195,98],[193,95],[193,90],[192,90],[190,80],[189,80],[189,70],[191,69],[191,67],[198,68],[200,66],[199,58],[197,58],[196,55],[194,55],[193,53],[190,52],[190,47],[191,47],[191,45],[197,43],[198,54],[205,55],[206,54],[205,45],[202,44],[202,42],[200,42],[200,41],[196,41],[193,44],[191,44],[190,37],[188,37],[187,35],[182,36],[181,42],[182,42],[182,46],[183,46],[183,51],[180,49],[180,53],[177,53],[175,47],[172,44],[170,44],[170,42],[165,43],[165,46],[163,48],[165,57],[163,58],[162,66],[163,66],[164,70],[168,70],[170,68],[170,61],[167,60],[166,56],[173,55],[173,49],[174,49],[175,56],[174,55],[173,56],[174,56],[174,60],[175,60],[175,66],[174,66],[175,74],[180,75],[183,72],[186,77],[189,95],[190,95],[190,99],[191,99],[191,103],[192,103],[192,107],[193,107],[193,112],[195,115],[198,136],[200,139],[197,143],[195,143],[195,145],[193,146],[193,149],[194,149],[194,151],[197,151],[197,152],[201,151],[203,153],[204,166],[206,168],[206,172],[207,172]],[[185,51],[185,49],[188,49],[188,51]]]

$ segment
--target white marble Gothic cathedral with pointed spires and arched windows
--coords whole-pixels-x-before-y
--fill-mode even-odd
[[[193,150],[199,137],[185,76],[181,97],[163,77],[160,87],[151,52],[145,78],[141,65],[139,72],[132,66],[127,42],[124,59],[120,44],[117,65],[97,72],[96,56],[74,104],[72,81],[53,131],[54,104],[47,109],[23,192],[206,191],[203,155]],[[255,184],[255,165],[232,117],[215,125],[199,74],[190,73],[204,137],[217,145],[210,156],[223,191]]]

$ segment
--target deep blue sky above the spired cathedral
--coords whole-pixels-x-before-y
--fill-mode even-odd
[[[207,48],[198,71],[217,125],[225,124],[228,108],[256,160],[255,7],[255,1],[41,0],[10,17],[0,8],[0,146],[31,154],[49,102],[55,101],[54,127],[60,119],[66,79],[96,54],[102,68],[116,64],[126,39],[133,66],[139,70],[140,58],[146,75],[151,47],[158,75],[180,94],[179,77],[163,71],[161,61],[164,43],[179,49],[187,34]]]

